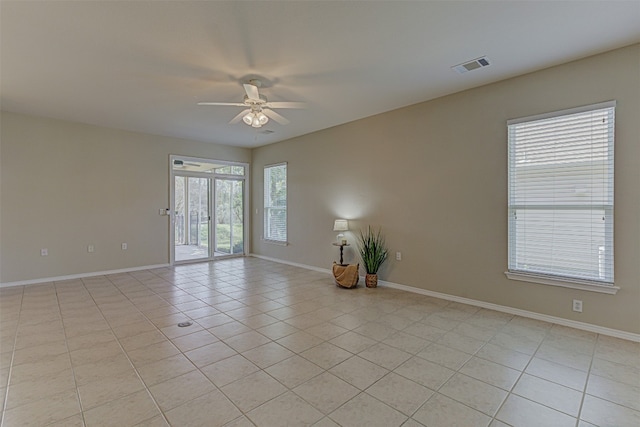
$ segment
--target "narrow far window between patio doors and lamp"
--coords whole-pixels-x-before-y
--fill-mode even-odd
[[[287,164],[264,168],[264,238],[287,242]]]

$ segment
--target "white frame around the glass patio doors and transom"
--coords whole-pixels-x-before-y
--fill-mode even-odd
[[[176,159],[185,160],[188,162],[201,162],[201,163],[212,163],[219,164],[221,166],[243,166],[244,167],[244,175],[230,175],[230,174],[218,174],[218,173],[207,173],[207,172],[193,172],[193,171],[176,171],[173,169],[173,162]],[[230,257],[241,257],[245,256],[250,252],[250,221],[249,221],[249,163],[245,162],[231,162],[227,160],[216,160],[209,159],[205,157],[192,157],[192,156],[181,156],[178,154],[170,154],[169,155],[169,264],[187,264],[193,262],[209,262],[214,259],[221,258],[230,258]],[[175,259],[175,177],[176,176],[187,176],[194,178],[209,178],[209,256],[207,258],[198,258],[194,260],[185,260],[185,261],[176,261]],[[244,197],[243,197],[243,239],[244,239],[244,247],[243,252],[239,254],[229,254],[229,255],[219,255],[215,256],[215,248],[213,247],[215,243],[215,179],[223,178],[223,179],[233,179],[236,181],[244,181]]]

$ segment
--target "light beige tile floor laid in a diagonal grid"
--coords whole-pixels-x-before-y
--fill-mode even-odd
[[[3,288],[0,320],[3,427],[640,426],[639,343],[255,258]]]

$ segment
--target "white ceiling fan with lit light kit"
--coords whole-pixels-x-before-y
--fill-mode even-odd
[[[274,108],[304,108],[303,102],[269,102],[267,97],[258,92],[262,82],[258,79],[251,79],[242,85],[246,95],[243,102],[198,102],[198,105],[222,105],[229,107],[247,107],[238,113],[229,123],[235,124],[242,120],[247,125],[259,128],[267,124],[269,119],[273,119],[281,125],[289,123],[285,117],[273,111]]]

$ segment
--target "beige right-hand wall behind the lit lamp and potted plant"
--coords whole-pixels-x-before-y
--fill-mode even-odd
[[[499,66],[494,64],[493,66]],[[464,78],[464,76],[461,76]],[[508,280],[506,121],[617,100],[617,295]],[[288,162],[289,241],[253,252],[330,268],[335,218],[383,226],[392,253],[381,279],[640,333],[640,45],[348,123],[253,151],[262,168]],[[349,236],[353,242],[353,234]],[[353,248],[348,261],[355,261]],[[582,314],[571,300],[584,302]]]

